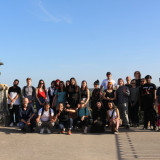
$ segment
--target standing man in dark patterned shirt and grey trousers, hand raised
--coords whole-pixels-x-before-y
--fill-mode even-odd
[[[119,88],[116,91],[117,104],[120,112],[120,117],[122,118],[123,125],[126,126],[126,129],[129,129],[129,120],[128,120],[128,97],[130,96],[130,91],[128,87],[124,85],[122,78],[118,79]]]

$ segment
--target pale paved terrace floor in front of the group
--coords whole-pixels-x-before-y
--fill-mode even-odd
[[[68,136],[0,127],[0,160],[160,160],[160,132],[141,128]]]

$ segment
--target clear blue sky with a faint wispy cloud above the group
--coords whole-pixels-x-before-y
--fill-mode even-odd
[[[152,75],[159,86],[160,0],[0,1],[0,82]]]

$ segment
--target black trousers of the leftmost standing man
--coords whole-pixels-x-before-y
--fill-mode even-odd
[[[10,104],[8,104],[8,109],[10,108]],[[10,123],[14,122],[14,114],[16,123],[19,122],[19,105],[13,105],[12,109],[9,109],[10,113]]]

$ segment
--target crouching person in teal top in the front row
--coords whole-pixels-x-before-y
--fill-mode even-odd
[[[76,110],[77,118],[75,119],[75,126],[79,128],[84,127],[84,133],[87,133],[88,124],[89,124],[89,111],[88,108],[85,107],[85,103],[81,100],[79,104],[79,108]]]

